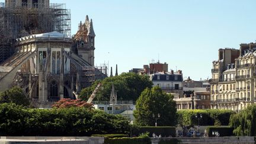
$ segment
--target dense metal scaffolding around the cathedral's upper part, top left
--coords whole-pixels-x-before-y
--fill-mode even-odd
[[[15,39],[59,31],[71,37],[71,11],[65,4],[0,3],[0,63],[12,55]]]

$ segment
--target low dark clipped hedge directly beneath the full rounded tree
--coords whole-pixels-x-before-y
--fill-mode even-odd
[[[149,133],[149,136],[152,136],[153,133],[155,135],[161,135],[162,137],[175,137],[175,127],[171,126],[158,126],[158,127],[153,127],[153,126],[144,126],[144,127],[138,127],[136,130],[133,131],[133,135],[139,135],[140,133]]]

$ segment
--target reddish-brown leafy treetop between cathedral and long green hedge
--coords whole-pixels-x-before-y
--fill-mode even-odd
[[[82,101],[81,99],[71,100],[70,98],[62,98],[61,100],[53,104],[52,107],[55,107],[55,108],[86,107],[89,109],[93,108],[92,104],[87,103],[86,101]]]

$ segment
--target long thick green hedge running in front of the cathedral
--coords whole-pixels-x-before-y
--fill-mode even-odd
[[[122,116],[84,107],[31,109],[0,104],[0,136],[91,136],[130,131]]]

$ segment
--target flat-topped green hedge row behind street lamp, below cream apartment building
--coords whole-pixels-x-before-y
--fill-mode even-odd
[[[202,118],[199,120],[200,126],[213,126],[215,124],[228,126],[229,117],[231,114],[235,113],[232,110],[180,110],[177,111],[178,124],[180,126],[195,126],[198,125],[198,119],[196,115],[202,114]]]

